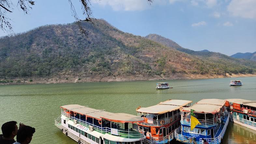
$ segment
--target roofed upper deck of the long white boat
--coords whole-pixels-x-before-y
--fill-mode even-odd
[[[65,105],[61,108],[62,118],[66,119],[72,128],[79,124],[79,127],[76,126],[76,128],[88,130],[90,126],[93,126],[94,133],[97,132],[104,134],[105,137],[112,137],[113,140],[125,140],[126,142],[130,141],[129,139],[146,138],[138,131],[136,124],[144,122],[141,117],[126,113],[112,113],[81,105]]]

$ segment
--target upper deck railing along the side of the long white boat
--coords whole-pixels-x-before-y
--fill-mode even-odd
[[[82,121],[78,118],[72,117],[66,112],[62,111],[62,115],[65,115],[68,117],[70,120],[77,120],[77,123],[82,124],[86,127],[93,126],[93,130],[100,132],[100,133],[110,133],[111,134],[111,128],[109,127],[100,127],[85,121]],[[119,137],[126,137],[126,138],[143,138],[144,135],[141,134],[139,131],[124,131],[124,130],[118,130],[118,136]]]

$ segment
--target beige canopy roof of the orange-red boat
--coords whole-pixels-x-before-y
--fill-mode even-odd
[[[146,107],[146,108],[138,108],[137,112],[143,113],[153,113],[153,114],[163,114],[166,112],[171,112],[182,108],[182,106],[191,103],[190,100],[178,100],[178,99],[169,99],[164,102],[160,102],[157,105]]]

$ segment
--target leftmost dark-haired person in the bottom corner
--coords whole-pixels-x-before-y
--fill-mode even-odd
[[[2,125],[2,135],[0,135],[0,144],[12,144],[15,142],[14,137],[17,135],[17,122],[10,121]]]

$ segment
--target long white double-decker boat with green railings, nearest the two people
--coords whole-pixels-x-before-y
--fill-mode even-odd
[[[144,119],[78,104],[61,106],[55,119],[55,125],[79,144],[142,144],[146,136],[138,131],[139,122]]]

